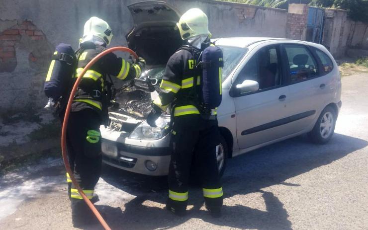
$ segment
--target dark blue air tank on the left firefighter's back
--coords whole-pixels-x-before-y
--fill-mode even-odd
[[[73,48],[68,44],[59,44],[52,55],[44,84],[45,95],[49,98],[46,109],[51,109],[61,102],[61,98],[68,96],[76,64]]]

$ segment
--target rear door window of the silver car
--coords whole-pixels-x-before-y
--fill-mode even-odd
[[[318,76],[317,62],[306,46],[284,45],[290,67],[290,81],[295,83]]]

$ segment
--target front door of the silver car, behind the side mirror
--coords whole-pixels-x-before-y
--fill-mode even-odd
[[[230,89],[230,95],[234,97],[240,149],[285,135],[283,124],[287,117],[288,87],[282,77],[280,46],[269,45],[252,53]],[[258,81],[259,89],[255,92],[239,91],[236,85],[244,80]]]

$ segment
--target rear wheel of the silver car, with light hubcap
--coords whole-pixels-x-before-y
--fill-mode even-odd
[[[328,143],[335,131],[337,115],[331,106],[323,109],[313,130],[308,133],[309,138],[316,144]]]

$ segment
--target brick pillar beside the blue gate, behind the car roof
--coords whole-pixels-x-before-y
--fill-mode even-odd
[[[290,7],[290,5],[293,7]],[[286,19],[286,38],[305,40],[307,18],[307,5],[289,4],[289,12]]]

